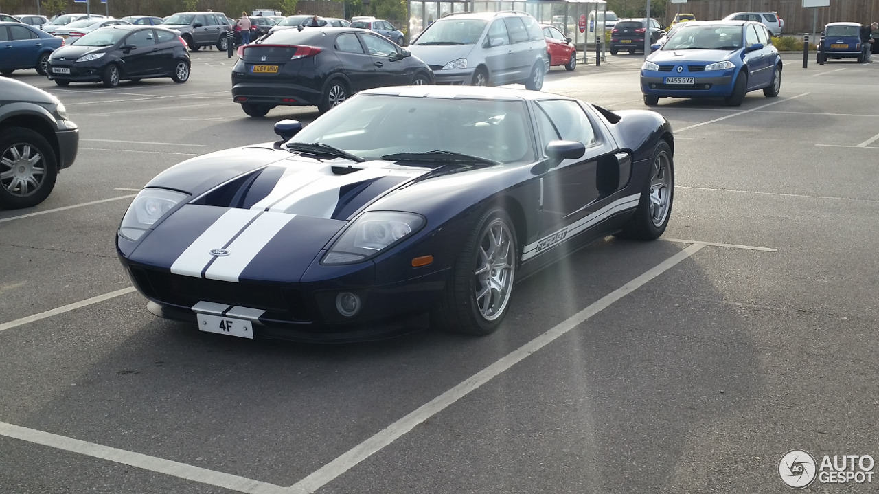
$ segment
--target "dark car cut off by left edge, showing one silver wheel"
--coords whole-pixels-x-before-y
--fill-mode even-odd
[[[79,129],[58,98],[0,77],[0,207],[33,207],[46,200],[78,148]]]

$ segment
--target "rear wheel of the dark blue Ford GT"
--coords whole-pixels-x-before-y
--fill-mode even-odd
[[[641,191],[635,214],[616,236],[633,240],[656,240],[672,217],[674,159],[668,142],[660,139],[653,149],[650,172]]]

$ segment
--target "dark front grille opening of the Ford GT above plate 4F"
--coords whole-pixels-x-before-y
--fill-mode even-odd
[[[299,290],[242,281],[207,280],[171,272],[131,269],[134,280],[150,298],[178,307],[213,301],[251,309],[264,309],[290,321],[310,321],[309,309]]]

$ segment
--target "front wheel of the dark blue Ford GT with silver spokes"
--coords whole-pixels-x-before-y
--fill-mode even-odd
[[[496,331],[509,307],[518,256],[510,216],[500,207],[489,208],[455,260],[446,290],[432,311],[432,324],[469,335]]]

